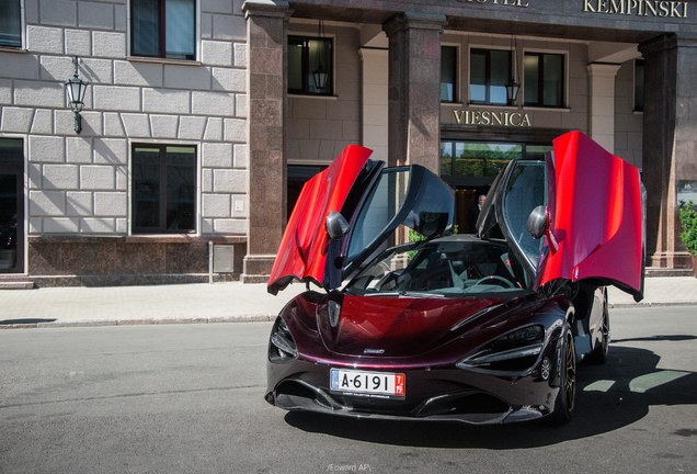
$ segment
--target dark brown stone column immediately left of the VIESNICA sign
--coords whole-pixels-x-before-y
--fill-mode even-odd
[[[407,12],[384,25],[389,38],[390,165],[419,163],[438,173],[445,22],[444,15]]]

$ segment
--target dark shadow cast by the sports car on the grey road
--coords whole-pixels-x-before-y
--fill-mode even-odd
[[[662,338],[686,340],[696,337]],[[697,405],[697,373],[658,369],[659,361],[660,357],[650,350],[612,347],[606,364],[580,365],[573,419],[562,426],[544,419],[505,427],[478,427],[457,422],[386,421],[305,413],[288,413],[285,420],[308,432],[407,447],[505,450],[552,445],[628,426],[643,418],[652,405]],[[694,428],[685,427],[673,435],[697,436]]]

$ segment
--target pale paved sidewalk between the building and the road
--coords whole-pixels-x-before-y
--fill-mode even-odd
[[[273,296],[265,284],[240,282],[1,290],[0,329],[266,321],[302,291],[292,284]],[[640,303],[614,287],[608,298],[613,307],[697,305],[697,279],[647,278]]]

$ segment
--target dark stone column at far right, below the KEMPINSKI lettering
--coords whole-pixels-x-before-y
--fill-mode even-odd
[[[697,180],[697,37],[662,35],[642,43],[643,182],[647,266],[689,268],[679,241],[678,185]]]

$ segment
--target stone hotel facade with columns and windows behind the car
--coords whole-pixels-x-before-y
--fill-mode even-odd
[[[265,281],[353,143],[438,172],[466,232],[503,163],[570,129],[642,170],[647,264],[690,264],[693,2],[9,0],[0,61],[5,281]]]

